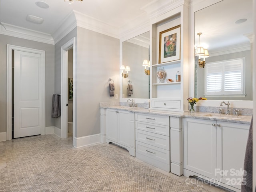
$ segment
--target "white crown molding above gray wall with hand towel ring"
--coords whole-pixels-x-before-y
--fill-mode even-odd
[[[77,26],[114,38],[120,37],[119,28],[78,11],[74,11],[74,14],[76,17]]]

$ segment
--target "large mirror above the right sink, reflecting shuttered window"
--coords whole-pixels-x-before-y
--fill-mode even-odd
[[[202,33],[200,46],[208,49],[209,52],[209,57],[205,58],[204,68],[199,68],[198,56],[195,56],[195,97],[206,97],[208,100],[253,100],[250,43],[253,33],[252,21],[252,0],[222,0],[194,13],[195,48],[199,44],[198,33]],[[229,92],[228,80],[225,79],[236,67],[232,62],[239,58],[244,61],[242,69],[244,76],[242,74],[241,78],[242,83],[245,82],[243,94]],[[230,62],[229,67],[220,70],[227,62]],[[210,66],[213,67],[210,68]],[[216,69],[218,72],[215,72]],[[222,94],[216,94],[216,92],[209,94],[207,93],[210,89],[209,79],[213,77],[212,82],[217,84],[218,78],[214,76],[217,73],[222,73],[220,78]],[[208,81],[207,84],[206,81]],[[235,80],[232,80],[230,86],[233,88],[235,83]]]

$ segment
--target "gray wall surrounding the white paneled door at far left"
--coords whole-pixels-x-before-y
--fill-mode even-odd
[[[46,126],[53,126],[52,94],[54,93],[54,45],[0,34],[0,132],[6,132],[6,49],[7,44],[46,52]]]

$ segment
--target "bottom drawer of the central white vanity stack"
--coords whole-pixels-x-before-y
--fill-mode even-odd
[[[136,158],[170,172],[169,150],[136,141]]]

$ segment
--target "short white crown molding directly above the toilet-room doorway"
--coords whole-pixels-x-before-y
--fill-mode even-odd
[[[52,33],[55,44],[76,28],[76,16],[71,11],[64,20],[59,24],[58,28]]]

